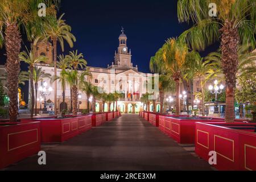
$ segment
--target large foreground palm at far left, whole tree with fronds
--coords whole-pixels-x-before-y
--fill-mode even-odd
[[[18,76],[20,72],[19,52],[22,41],[20,30],[27,38],[32,34],[43,34],[43,21],[47,17],[38,16],[39,3],[46,3],[48,15],[56,13],[58,0],[2,0],[0,3],[0,47],[6,48],[7,88],[9,90],[10,121],[17,121],[18,116]]]

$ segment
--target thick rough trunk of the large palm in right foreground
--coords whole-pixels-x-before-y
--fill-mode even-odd
[[[225,21],[221,28],[221,66],[226,82],[225,121],[234,122],[234,88],[238,67],[238,45],[240,38],[234,22]]]

